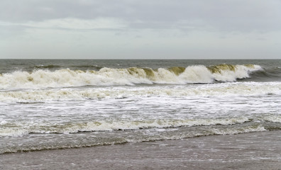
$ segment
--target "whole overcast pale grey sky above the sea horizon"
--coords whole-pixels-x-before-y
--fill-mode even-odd
[[[281,59],[281,0],[1,0],[0,59]]]

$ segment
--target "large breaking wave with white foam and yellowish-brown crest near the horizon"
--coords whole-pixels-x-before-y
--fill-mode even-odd
[[[250,74],[262,71],[255,64],[214,66],[195,65],[170,68],[126,69],[101,68],[99,71],[88,69],[57,69],[57,65],[38,67],[33,72],[16,71],[0,74],[0,89],[48,89],[73,86],[119,86],[136,84],[204,84],[215,81],[227,82],[250,78]],[[44,69],[45,68],[45,69]]]

